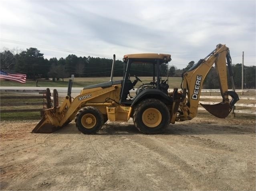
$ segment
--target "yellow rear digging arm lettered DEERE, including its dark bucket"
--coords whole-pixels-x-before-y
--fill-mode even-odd
[[[223,100],[221,103],[215,105],[201,105],[214,116],[225,118],[232,110],[234,104],[239,100],[238,95],[235,93],[233,83],[229,48],[226,47],[226,45],[219,44],[206,58],[201,59],[196,65],[191,67],[191,69],[183,73],[182,98],[180,104],[181,113],[177,116],[179,120],[190,120],[196,116],[204,79],[214,63],[218,71],[220,92]],[[228,91],[226,64],[228,64],[230,77],[232,78],[233,91]],[[229,95],[232,96],[231,102],[228,98]]]

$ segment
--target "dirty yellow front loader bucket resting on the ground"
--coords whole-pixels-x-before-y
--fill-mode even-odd
[[[60,128],[58,126],[58,120],[54,115],[54,108],[43,110],[43,112],[42,119],[32,130],[32,133],[52,133]]]

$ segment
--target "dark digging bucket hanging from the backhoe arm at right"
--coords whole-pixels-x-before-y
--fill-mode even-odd
[[[226,118],[232,110],[232,106],[229,103],[220,102],[218,104],[202,104],[200,103],[208,112],[213,114],[218,118]]]

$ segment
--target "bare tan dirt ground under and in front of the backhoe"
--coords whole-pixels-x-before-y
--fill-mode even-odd
[[[198,115],[164,134],[132,121],[97,135],[74,122],[31,134],[38,121],[1,122],[1,190],[256,190],[255,118]]]

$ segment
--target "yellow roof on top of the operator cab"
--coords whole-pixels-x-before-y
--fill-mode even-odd
[[[127,63],[128,59],[134,59],[137,63],[152,63],[157,59],[160,59],[160,63],[168,63],[171,61],[171,55],[169,54],[157,54],[157,53],[141,53],[141,54],[127,54],[123,56],[123,61]]]

